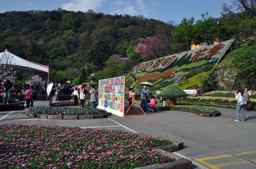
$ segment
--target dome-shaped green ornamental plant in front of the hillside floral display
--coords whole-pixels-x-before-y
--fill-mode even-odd
[[[180,97],[186,97],[187,93],[176,85],[170,85],[160,92],[160,96],[164,97],[165,99],[174,100]]]

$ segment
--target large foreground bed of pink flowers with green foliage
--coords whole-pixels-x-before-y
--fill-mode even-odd
[[[0,127],[0,168],[133,169],[175,161],[153,149],[170,141],[129,132],[21,124]]]

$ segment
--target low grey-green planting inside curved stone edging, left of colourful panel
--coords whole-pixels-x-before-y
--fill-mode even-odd
[[[29,107],[29,111],[36,114],[43,115],[57,115],[57,116],[87,116],[87,115],[102,115],[107,111],[102,109],[92,109],[92,108],[73,108],[73,107]]]

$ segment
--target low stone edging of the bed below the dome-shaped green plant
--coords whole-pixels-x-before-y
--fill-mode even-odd
[[[189,111],[192,113],[197,114],[198,116],[205,116],[205,117],[217,117],[220,116],[220,112],[217,111],[216,109],[214,109],[216,112],[215,113],[202,113],[200,111],[196,111],[196,110],[188,110],[188,109],[178,109],[178,108],[169,108],[168,106],[159,106],[157,107],[158,110],[162,110],[162,111]]]

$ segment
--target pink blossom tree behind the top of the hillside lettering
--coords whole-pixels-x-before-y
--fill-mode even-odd
[[[154,59],[162,57],[162,49],[162,40],[159,36],[154,36],[141,39],[134,52],[143,59]]]

